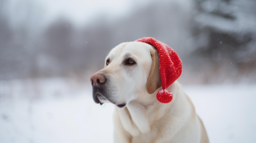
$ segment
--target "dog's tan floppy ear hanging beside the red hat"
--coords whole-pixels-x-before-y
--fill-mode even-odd
[[[161,84],[159,71],[159,54],[156,48],[150,48],[150,55],[152,57],[152,66],[150,75],[148,76],[147,91],[152,94],[157,90]]]

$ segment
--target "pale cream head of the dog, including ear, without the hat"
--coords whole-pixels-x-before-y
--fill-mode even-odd
[[[111,102],[122,108],[131,100],[150,100],[148,96],[161,86],[158,52],[143,42],[121,43],[90,80],[96,103]]]

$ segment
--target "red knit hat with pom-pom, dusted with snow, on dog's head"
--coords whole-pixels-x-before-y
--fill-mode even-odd
[[[152,37],[144,37],[138,42],[144,42],[157,48],[159,53],[159,69],[162,82],[162,90],[157,92],[157,100],[161,103],[169,103],[173,94],[166,90],[182,73],[182,62],[178,54],[168,45],[155,40]]]

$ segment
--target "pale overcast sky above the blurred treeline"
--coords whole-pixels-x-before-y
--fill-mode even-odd
[[[27,2],[26,2],[27,1]],[[146,6],[152,0],[7,0],[2,12],[10,18],[10,24],[16,26],[22,21],[37,19],[43,23],[63,17],[74,24],[83,25],[99,15],[109,19],[128,14],[135,7]]]

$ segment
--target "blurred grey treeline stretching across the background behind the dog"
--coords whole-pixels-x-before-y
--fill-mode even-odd
[[[255,82],[255,6],[254,0],[153,2],[80,27],[60,17],[36,32],[26,21],[11,26],[0,13],[0,79],[80,76],[102,68],[117,44],[155,37],[182,58],[184,82]]]

